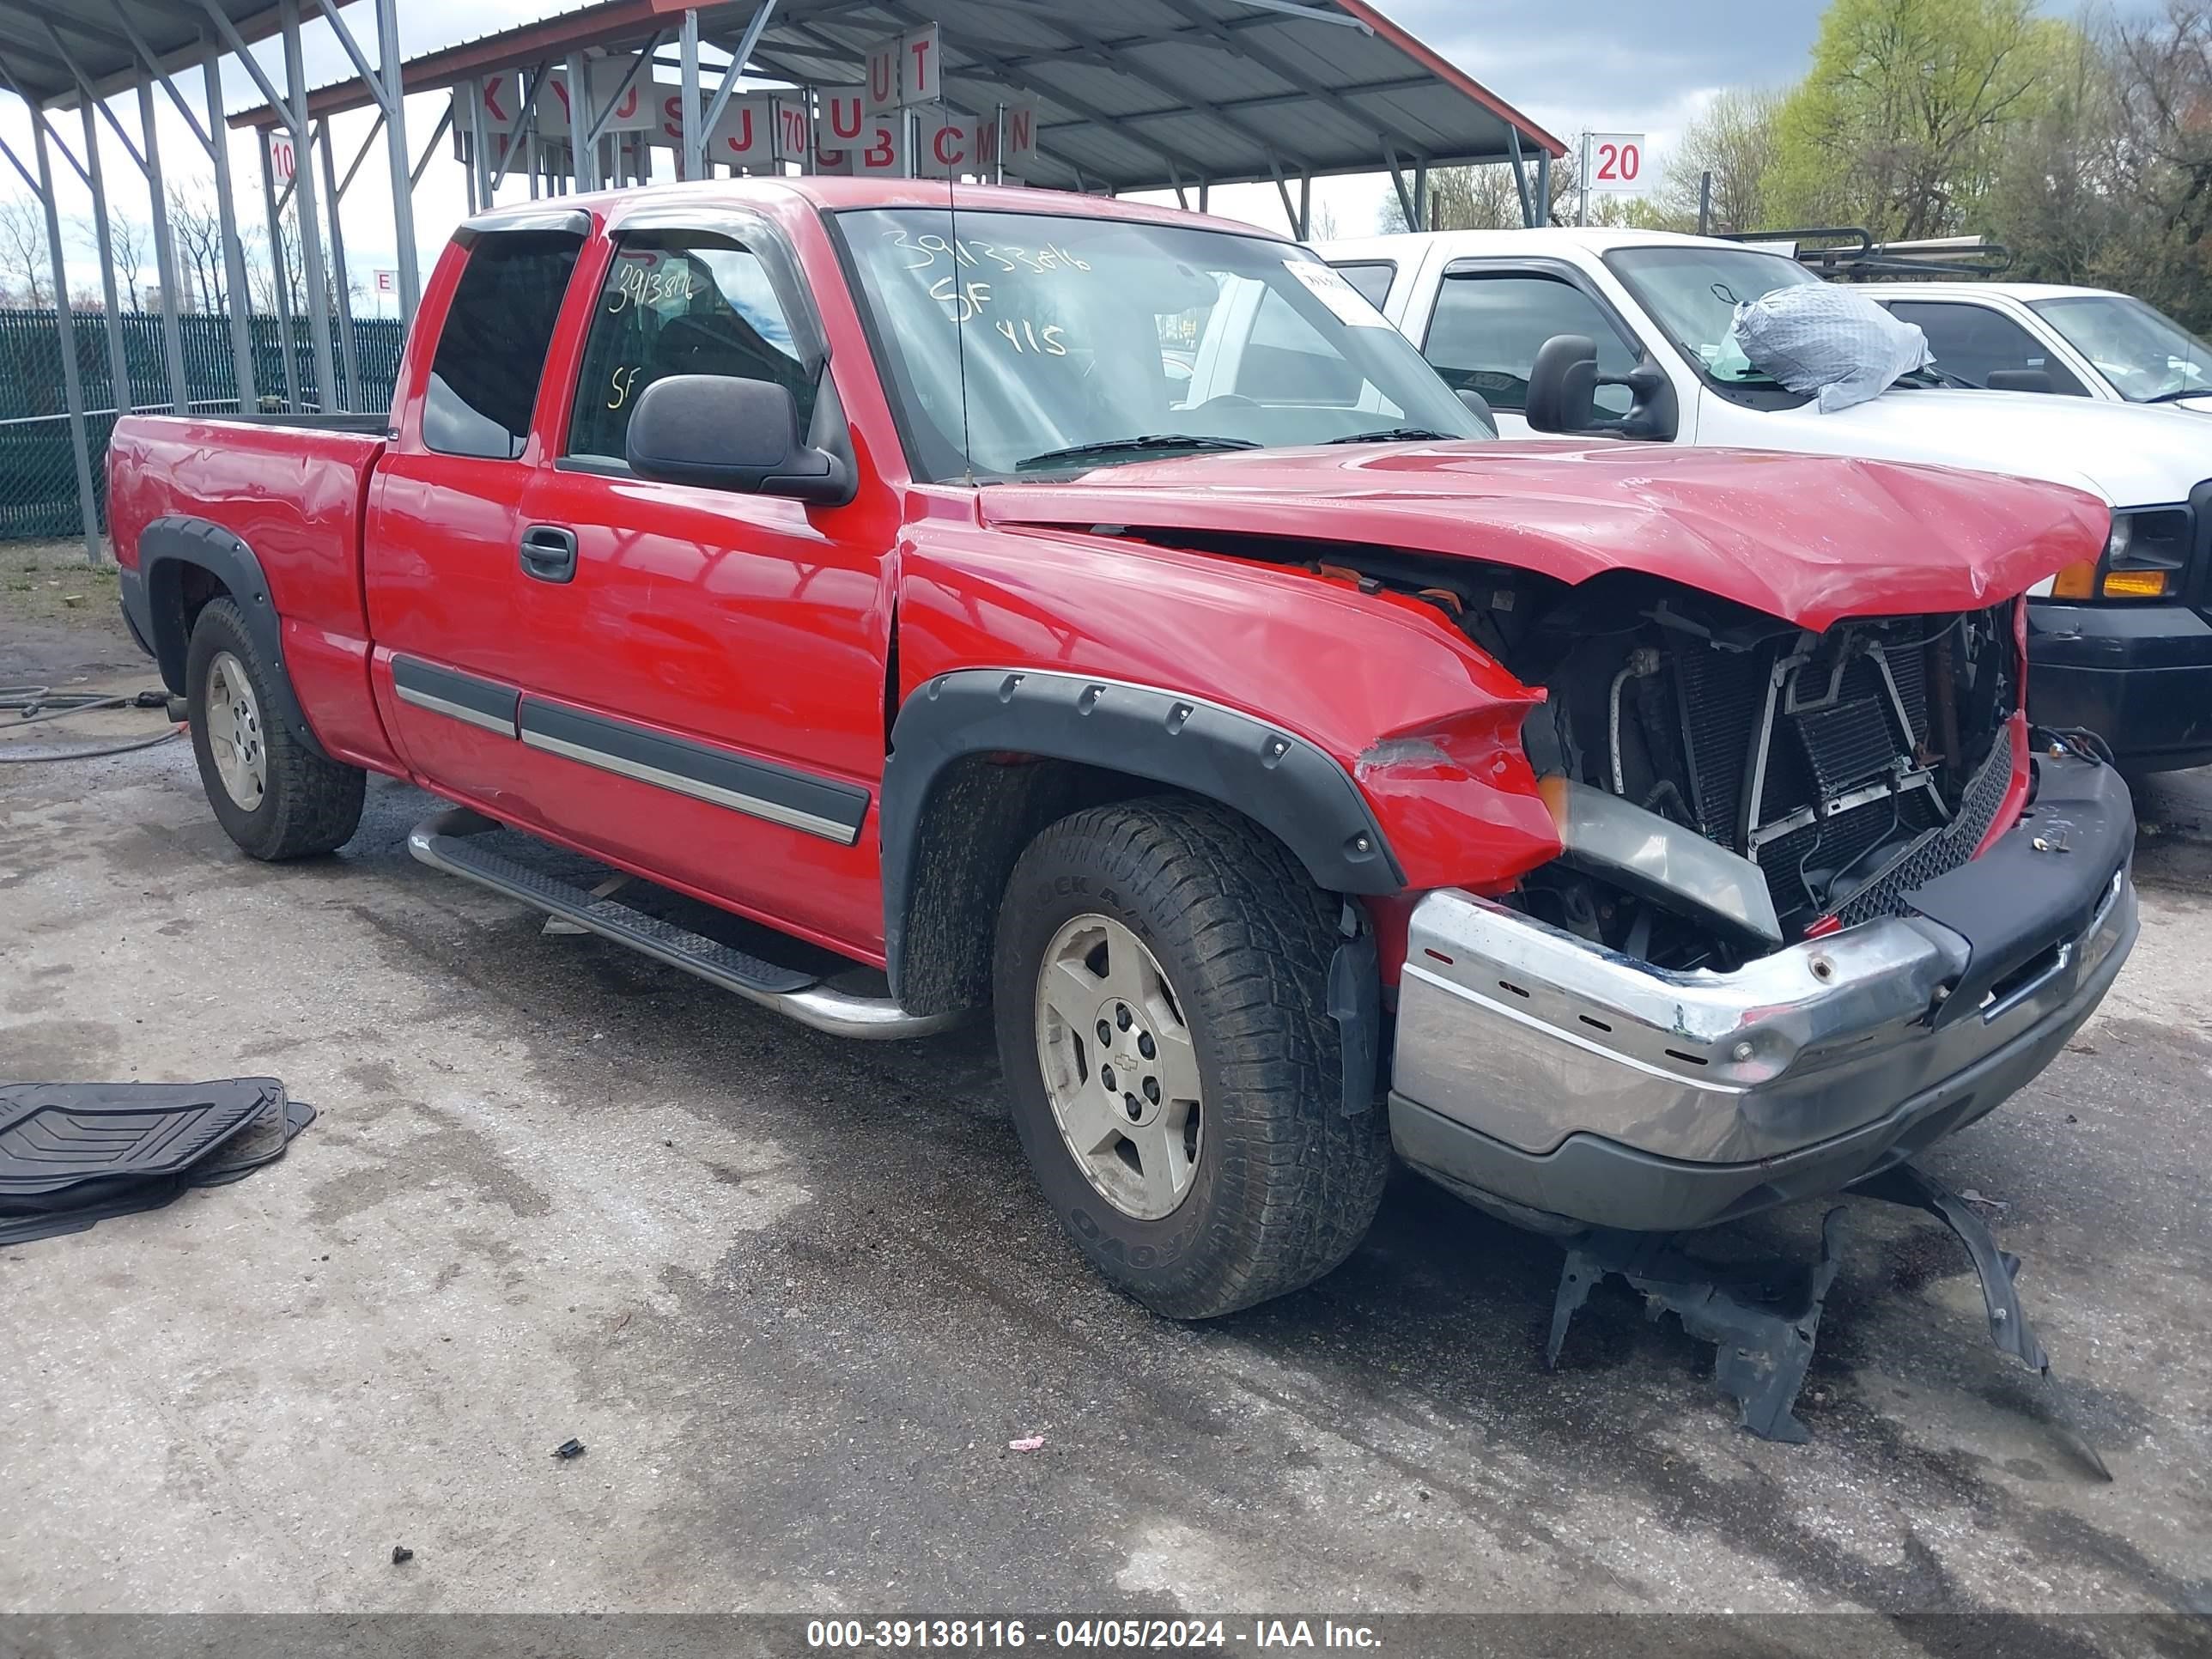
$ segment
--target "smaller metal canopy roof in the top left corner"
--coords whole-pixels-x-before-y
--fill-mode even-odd
[[[212,4],[246,44],[279,29],[276,0]],[[312,13],[312,0],[305,9]],[[75,106],[77,73],[97,97],[111,97],[146,77],[146,60],[173,75],[199,64],[210,44],[228,46],[195,0],[0,0],[0,71],[15,91],[49,108]]]

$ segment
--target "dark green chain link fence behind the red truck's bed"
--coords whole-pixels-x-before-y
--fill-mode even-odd
[[[119,407],[168,414],[168,347],[157,314],[133,312],[122,323],[128,398],[115,396],[108,369],[108,330],[100,312],[73,312],[77,378],[84,385],[84,427],[93,449],[93,495],[102,529],[108,522],[106,453]],[[234,414],[239,376],[230,356],[228,316],[179,316],[184,385],[195,414]],[[398,378],[398,319],[354,319],[358,389],[345,380],[338,345],[343,323],[332,319],[332,407],[385,409]],[[305,323],[292,327],[292,372],[285,374],[283,327],[274,316],[252,319],[254,389],[263,411],[321,409],[314,341]],[[69,405],[62,392],[62,330],[53,310],[0,310],[0,542],[69,538],[84,531],[77,511],[77,458],[69,442]]]

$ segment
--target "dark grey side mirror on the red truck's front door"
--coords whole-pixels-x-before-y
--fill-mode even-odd
[[[670,374],[637,396],[624,458],[639,478],[841,507],[852,467],[799,436],[799,405],[774,380]]]

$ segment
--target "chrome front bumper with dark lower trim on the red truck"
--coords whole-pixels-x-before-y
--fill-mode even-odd
[[[2079,803],[2046,787],[2057,799],[1964,867],[1969,894],[1991,883],[1973,894],[1991,914],[2022,869],[2075,889],[2051,889],[2066,902],[2044,911],[2066,920],[2048,936],[2006,933],[1993,982],[1971,969],[2002,918],[1975,940],[1896,916],[1734,973],[1670,973],[1473,894],[1429,894],[1398,998],[1400,1152],[1515,1212],[1679,1228],[1834,1190],[1973,1121],[2048,1064],[2135,942],[2126,792],[2057,783]],[[2037,838],[2057,849],[2028,858]],[[1955,991],[1975,1006],[1949,1006]]]

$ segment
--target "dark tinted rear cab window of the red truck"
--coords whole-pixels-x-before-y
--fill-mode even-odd
[[[515,460],[584,239],[500,230],[478,239],[438,334],[422,396],[422,445],[440,456]]]

